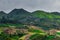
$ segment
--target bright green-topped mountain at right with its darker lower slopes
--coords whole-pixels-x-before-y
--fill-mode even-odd
[[[56,12],[45,12],[41,10],[37,10],[31,13],[31,15],[39,20],[35,23],[35,25],[39,25],[43,29],[51,29],[57,28],[60,29],[60,15]],[[36,19],[37,20],[37,19]]]

